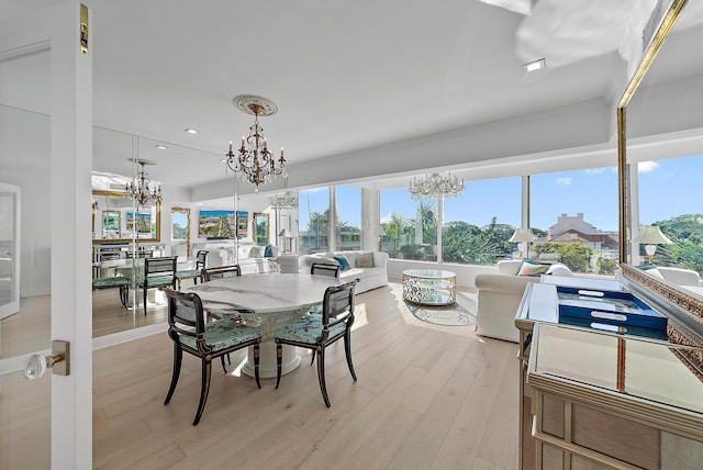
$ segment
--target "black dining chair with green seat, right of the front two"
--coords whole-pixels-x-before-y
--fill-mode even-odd
[[[322,314],[303,318],[278,327],[274,332],[276,343],[276,389],[281,381],[282,345],[312,349],[317,354],[317,380],[325,405],[330,407],[330,398],[325,384],[325,349],[344,338],[347,366],[356,382],[356,372],[352,363],[352,325],[354,324],[354,286],[357,280],[325,290],[322,300]]]

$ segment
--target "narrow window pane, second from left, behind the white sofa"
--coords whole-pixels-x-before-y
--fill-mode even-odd
[[[335,249],[361,249],[361,189],[335,187]]]

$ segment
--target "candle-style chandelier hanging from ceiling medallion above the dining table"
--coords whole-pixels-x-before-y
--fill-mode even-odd
[[[233,102],[241,111],[254,114],[255,118],[254,125],[249,127],[249,135],[246,138],[242,137],[242,146],[236,153],[230,141],[230,152],[225,154],[227,167],[235,174],[242,174],[247,181],[256,186],[257,190],[259,184],[270,182],[278,175],[287,177],[283,147],[281,147],[280,158],[276,159],[268,149],[264,127],[259,125],[259,115],[275,114],[278,107],[266,98],[253,96],[236,97]]]

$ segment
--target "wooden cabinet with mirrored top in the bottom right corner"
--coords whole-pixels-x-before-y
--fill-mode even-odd
[[[531,321],[531,307],[554,314],[549,289],[535,286],[516,318],[522,468],[702,468],[703,382],[682,347]]]

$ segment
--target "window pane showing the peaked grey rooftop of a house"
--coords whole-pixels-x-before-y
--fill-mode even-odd
[[[574,272],[612,275],[618,257],[617,169],[531,177],[531,258],[560,261]]]

